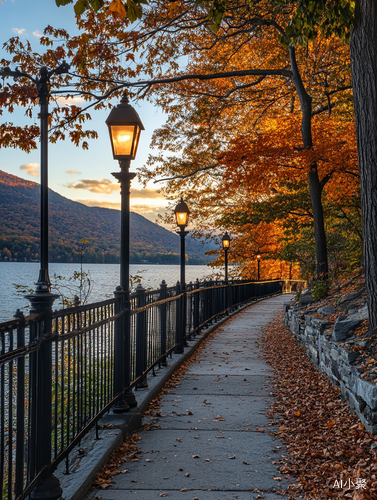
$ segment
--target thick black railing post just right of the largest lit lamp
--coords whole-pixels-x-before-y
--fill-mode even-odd
[[[139,283],[136,287],[137,308],[144,307],[146,294],[145,289]],[[142,311],[136,317],[136,377],[140,377],[147,369],[147,313]],[[146,377],[142,377],[137,383],[138,389],[148,387]]]

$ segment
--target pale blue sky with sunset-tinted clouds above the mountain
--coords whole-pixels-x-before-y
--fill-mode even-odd
[[[0,0],[0,55],[6,57],[2,45],[12,36],[29,40],[38,50],[38,40],[47,25],[65,28],[69,33],[77,31],[73,4],[56,7],[55,0]],[[69,62],[69,61],[68,61]],[[12,68],[14,69],[14,68]],[[114,101],[116,104],[116,101]],[[155,129],[166,121],[166,115],[150,103],[131,102],[138,112],[145,130],[142,132],[136,159],[131,171],[137,172],[148,158],[149,144]],[[11,115],[4,113],[1,122],[12,121],[15,125],[30,123],[24,108]],[[105,120],[109,110],[93,111],[88,128],[98,132],[98,139],[89,141],[89,150],[74,146],[69,140],[49,144],[49,187],[71,200],[91,206],[120,208],[119,185],[111,172],[119,170],[112,157],[110,138]],[[0,170],[39,182],[39,150],[24,153],[15,149],[0,149]],[[155,221],[164,212],[167,201],[157,193],[151,183],[146,189],[136,179],[132,181],[131,210]]]

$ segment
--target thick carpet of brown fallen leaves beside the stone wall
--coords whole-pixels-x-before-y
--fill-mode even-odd
[[[283,455],[279,470],[299,481],[286,493],[317,500],[376,499],[377,452],[371,445],[377,444],[377,437],[350,414],[340,390],[317,371],[281,317],[263,333],[264,356],[276,374],[275,402],[268,416],[277,420],[280,427],[275,435],[289,453]]]

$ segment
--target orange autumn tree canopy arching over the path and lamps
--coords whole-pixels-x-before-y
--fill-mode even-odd
[[[244,276],[253,277],[257,248],[268,277],[327,273],[327,260],[330,275],[360,265],[350,60],[341,35],[289,46],[294,2],[74,4],[77,35],[46,27],[40,54],[11,38],[9,59],[0,61],[34,75],[69,61],[69,73],[52,78],[51,141],[88,148],[97,137],[87,128],[90,113],[127,88],[168,114],[140,179],[163,181],[172,205],[183,195],[198,235],[219,243],[219,232],[231,232],[230,261]],[[80,106],[69,102],[77,95]],[[3,109],[22,105],[33,117],[36,104],[30,81],[5,82]],[[0,146],[30,151],[38,133],[37,125],[4,123]]]

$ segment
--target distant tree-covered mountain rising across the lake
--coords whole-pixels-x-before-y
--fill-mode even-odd
[[[0,170],[0,260],[39,258],[39,184]],[[80,242],[88,239],[84,262],[119,262],[120,211],[87,207],[49,190],[50,260],[79,261]],[[204,264],[200,243],[186,238],[189,264]],[[208,248],[207,248],[208,249]],[[179,263],[179,236],[131,212],[131,262]]]

